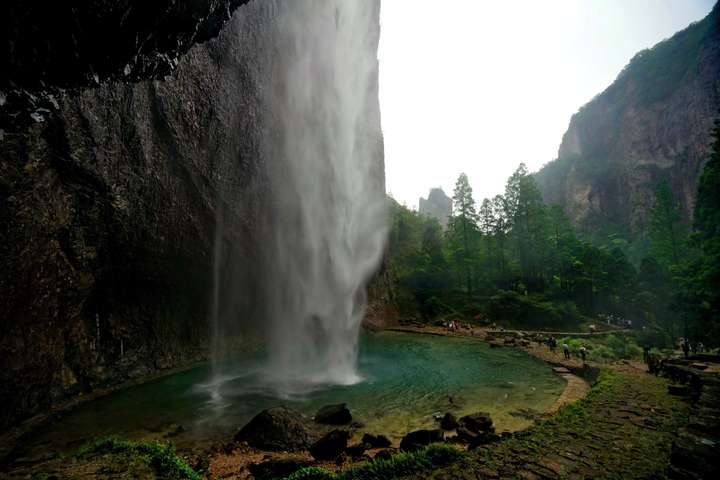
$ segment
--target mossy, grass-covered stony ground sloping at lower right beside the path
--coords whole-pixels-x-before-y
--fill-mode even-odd
[[[652,405],[653,411],[639,405]],[[619,409],[647,416],[642,426],[624,420]],[[656,414],[657,411],[657,414]],[[572,450],[592,464],[580,476],[594,478],[658,478],[670,457],[679,425],[687,422],[686,406],[671,398],[665,383],[650,375],[627,376],[603,369],[588,395],[566,405],[552,418],[478,453],[477,461],[501,470],[508,462],[533,463],[548,454]],[[593,450],[590,447],[599,447]],[[595,470],[593,470],[593,468]]]

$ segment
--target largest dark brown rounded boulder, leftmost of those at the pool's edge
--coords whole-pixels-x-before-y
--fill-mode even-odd
[[[312,440],[307,420],[287,407],[263,410],[235,434],[236,442],[272,451],[307,450]]]

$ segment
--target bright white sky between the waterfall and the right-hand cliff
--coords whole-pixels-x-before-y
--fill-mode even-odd
[[[417,208],[461,172],[478,203],[556,158],[570,117],[714,0],[383,0],[387,190]]]

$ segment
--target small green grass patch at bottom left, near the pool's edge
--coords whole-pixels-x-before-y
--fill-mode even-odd
[[[78,458],[94,454],[127,455],[142,459],[161,478],[201,480],[203,477],[175,452],[172,443],[156,441],[134,442],[105,437],[83,445],[75,455]]]

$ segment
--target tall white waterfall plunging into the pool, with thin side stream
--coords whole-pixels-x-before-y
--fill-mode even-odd
[[[255,8],[270,30],[267,64],[254,72],[268,204],[258,247],[258,321],[268,348],[262,376],[280,394],[355,383],[365,286],[386,237],[379,1],[276,0]],[[215,247],[217,350],[223,323],[234,321],[219,297],[238,292],[221,288],[223,242]]]

